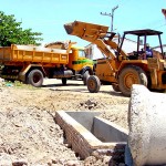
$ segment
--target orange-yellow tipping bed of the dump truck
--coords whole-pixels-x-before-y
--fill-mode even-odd
[[[68,64],[69,50],[29,45],[2,46],[0,48],[0,63],[6,62]]]

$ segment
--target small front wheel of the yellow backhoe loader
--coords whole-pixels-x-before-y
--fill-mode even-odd
[[[91,93],[97,93],[101,87],[101,81],[96,75],[90,75],[87,79],[87,90]]]

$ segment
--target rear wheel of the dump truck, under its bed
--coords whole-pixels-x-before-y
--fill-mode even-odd
[[[43,84],[43,73],[40,70],[32,70],[28,74],[28,84],[40,87]]]

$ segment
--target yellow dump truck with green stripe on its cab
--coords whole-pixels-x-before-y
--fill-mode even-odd
[[[83,48],[69,42],[66,49],[31,45],[11,45],[0,48],[0,76],[18,80],[33,86],[41,86],[44,77],[82,79],[84,84],[89,74],[93,74],[93,61],[85,58]]]

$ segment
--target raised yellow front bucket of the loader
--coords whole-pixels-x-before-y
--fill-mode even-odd
[[[64,24],[68,34],[76,35],[86,41],[94,41],[106,35],[108,27],[101,24],[92,24],[87,22],[74,21]]]

